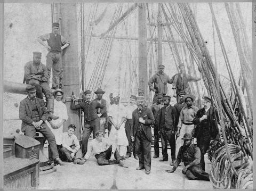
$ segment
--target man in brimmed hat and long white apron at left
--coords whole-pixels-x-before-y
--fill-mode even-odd
[[[52,130],[53,135],[55,136],[56,144],[58,151],[61,147],[62,134],[63,134],[63,123],[68,120],[67,106],[61,101],[63,97],[63,91],[61,89],[56,89],[53,92],[54,95],[54,115],[59,116],[59,119],[46,121],[46,124]],[[52,152],[50,146],[48,147],[49,160],[52,159]]]

